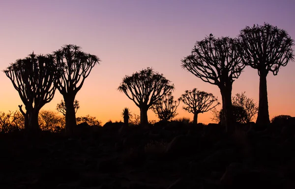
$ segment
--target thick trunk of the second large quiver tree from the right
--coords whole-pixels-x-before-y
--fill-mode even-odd
[[[235,130],[232,107],[232,86],[232,84],[228,84],[226,87],[220,87],[223,110],[221,125],[225,126],[227,133],[233,133]]]

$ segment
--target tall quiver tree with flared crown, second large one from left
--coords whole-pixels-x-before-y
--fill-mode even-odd
[[[78,91],[82,88],[85,79],[92,68],[100,59],[96,55],[84,53],[76,45],[64,45],[53,53],[59,69],[63,70],[60,80],[56,82],[57,89],[63,96],[65,112],[65,132],[73,134],[73,128],[77,125],[74,100]]]

